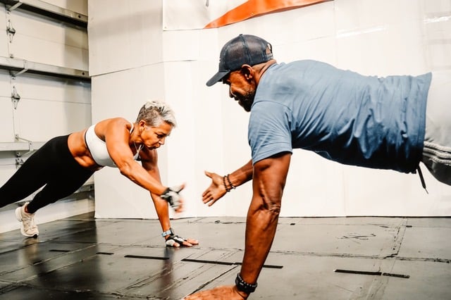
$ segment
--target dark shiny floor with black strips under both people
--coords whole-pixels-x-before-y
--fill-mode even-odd
[[[230,285],[244,218],[173,220],[193,248],[163,246],[156,220],[39,225],[0,234],[0,299],[180,299]],[[451,218],[280,218],[249,299],[451,299]]]

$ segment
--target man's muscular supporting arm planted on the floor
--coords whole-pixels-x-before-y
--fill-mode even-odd
[[[278,154],[254,165],[253,196],[247,213],[245,256],[240,275],[242,280],[257,283],[261,268],[266,261],[276,235],[283,189],[290,167],[290,153]],[[216,287],[192,294],[185,299],[247,299],[249,294],[236,286]]]

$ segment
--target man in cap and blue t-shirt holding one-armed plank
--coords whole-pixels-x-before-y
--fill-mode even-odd
[[[276,233],[292,149],[349,165],[418,170],[423,182],[422,161],[434,177],[451,185],[449,75],[381,78],[319,61],[278,64],[271,44],[239,35],[223,46],[218,73],[206,85],[216,82],[228,85],[229,96],[251,112],[252,160],[223,177],[206,172],[212,182],[202,198],[212,205],[253,180],[245,254],[235,285],[186,299],[247,299],[254,292]]]

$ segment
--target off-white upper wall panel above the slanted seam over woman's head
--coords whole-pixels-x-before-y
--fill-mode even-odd
[[[161,1],[89,0],[89,75],[161,62]]]

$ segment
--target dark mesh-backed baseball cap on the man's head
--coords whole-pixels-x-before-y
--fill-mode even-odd
[[[206,82],[211,87],[220,82],[228,73],[240,70],[242,65],[257,65],[273,59],[273,47],[261,37],[238,35],[230,39],[219,54],[218,73]]]

